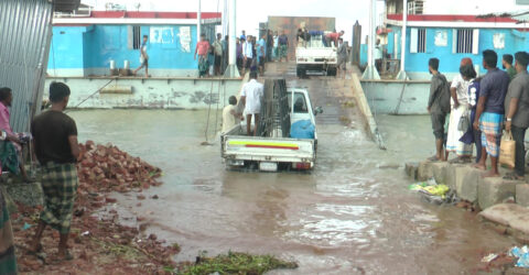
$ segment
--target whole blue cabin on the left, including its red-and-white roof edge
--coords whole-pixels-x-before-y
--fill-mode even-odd
[[[197,15],[188,12],[91,11],[87,16],[54,18],[47,74],[87,77],[110,74],[110,64],[140,65],[142,36],[148,35],[149,74],[195,77]],[[202,32],[213,43],[220,13],[202,13]]]

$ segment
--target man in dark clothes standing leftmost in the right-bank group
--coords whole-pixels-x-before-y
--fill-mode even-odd
[[[429,160],[432,162],[445,161],[444,145],[444,122],[450,111],[450,88],[446,77],[439,73],[439,59],[430,58],[429,70],[432,74],[430,85],[430,99],[428,100],[428,112],[432,119],[433,135],[435,136],[435,155]]]

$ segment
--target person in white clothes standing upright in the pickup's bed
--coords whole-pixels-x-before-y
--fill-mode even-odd
[[[245,106],[246,112],[246,131],[248,135],[257,134],[259,125],[259,113],[261,112],[261,98],[264,95],[264,86],[257,81],[257,72],[250,73],[250,81],[242,86],[240,100]],[[255,118],[253,134],[251,134],[251,117]]]

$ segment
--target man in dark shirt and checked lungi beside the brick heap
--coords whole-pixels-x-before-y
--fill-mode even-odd
[[[72,260],[67,250],[74,201],[77,197],[79,156],[77,127],[63,111],[69,99],[69,88],[63,82],[50,85],[52,108],[37,116],[31,125],[35,155],[42,167],[44,210],[30,244],[30,252],[42,250],[41,238],[46,226],[60,232],[58,258]]]

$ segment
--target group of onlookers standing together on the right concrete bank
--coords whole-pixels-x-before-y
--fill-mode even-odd
[[[497,63],[496,52],[484,51],[483,67],[487,74],[478,77],[472,59],[463,58],[460,74],[449,84],[439,72],[440,61],[429,61],[432,80],[428,111],[436,148],[430,161],[449,161],[452,153],[456,157],[451,163],[471,163],[475,146],[474,166],[485,170],[486,161],[490,158],[492,169],[485,177],[499,177],[501,136],[507,134],[516,142],[516,153],[514,172],[504,178],[523,179],[525,135],[529,127],[529,54],[504,55],[501,63],[506,70],[499,69]]]

